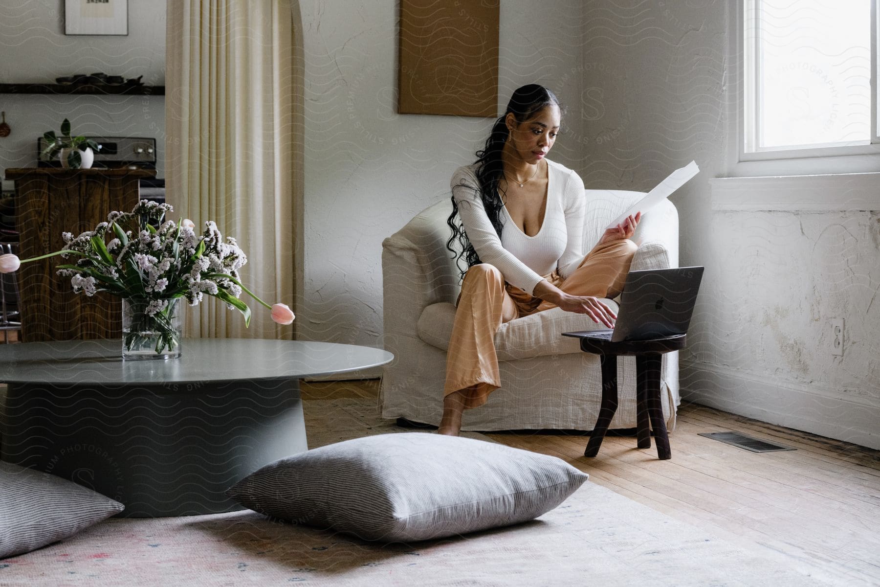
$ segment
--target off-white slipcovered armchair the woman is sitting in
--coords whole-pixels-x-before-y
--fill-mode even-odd
[[[584,250],[598,242],[614,218],[641,192],[586,190]],[[385,365],[379,405],[385,418],[438,424],[443,414],[446,349],[449,346],[459,273],[446,249],[450,236],[445,200],[422,210],[382,243]],[[635,231],[639,250],[631,269],[678,267],[678,212],[664,201],[650,209]],[[616,310],[615,302],[608,300]],[[580,350],[563,332],[604,328],[583,314],[559,308],[502,324],[495,334],[502,387],[485,406],[466,410],[465,430],[581,429],[596,423],[602,396],[598,356]],[[664,415],[678,406],[678,353],[663,357]],[[619,407],[612,429],[635,428],[635,360],[618,362]]]

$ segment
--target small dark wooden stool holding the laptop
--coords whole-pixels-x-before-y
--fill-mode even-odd
[[[651,447],[651,429],[654,429],[657,443],[657,458],[671,459],[669,435],[660,403],[660,362],[664,353],[685,348],[686,334],[649,341],[612,342],[585,336],[587,333],[565,333],[581,339],[581,350],[599,356],[602,364],[602,404],[596,426],[590,434],[590,442],[583,451],[585,457],[598,454],[605,432],[617,411],[617,357],[635,356],[635,421],[638,426],[637,446],[640,449]],[[673,407],[674,409],[674,407]]]

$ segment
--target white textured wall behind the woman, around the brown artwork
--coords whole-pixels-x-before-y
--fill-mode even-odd
[[[305,186],[297,336],[381,346],[382,239],[450,196],[452,172],[473,163],[493,120],[395,114],[395,0],[315,0],[300,10]],[[578,99],[581,14],[578,0],[545,2],[540,11],[525,0],[502,2],[500,108],[532,82],[558,89],[563,101]],[[580,135],[577,126],[572,135]],[[565,137],[554,153],[566,165],[579,158]]]

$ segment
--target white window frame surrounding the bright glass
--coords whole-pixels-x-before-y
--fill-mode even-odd
[[[753,102],[746,95],[755,79],[752,60],[746,54],[745,18],[755,0],[736,0],[730,6],[729,71],[732,76],[728,100],[728,153],[731,177],[767,175],[809,175],[816,173],[854,173],[880,171],[880,138],[877,136],[877,4],[871,0],[871,143],[851,146],[810,147],[805,149],[745,150],[746,125],[755,121]],[[732,112],[731,112],[732,110]]]

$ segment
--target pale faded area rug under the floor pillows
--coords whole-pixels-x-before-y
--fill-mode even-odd
[[[411,431],[378,418],[370,400],[307,401],[305,412],[312,448]],[[370,543],[250,511],[110,519],[0,561],[0,585],[835,584],[762,548],[716,538],[588,481],[532,522],[412,544]]]

